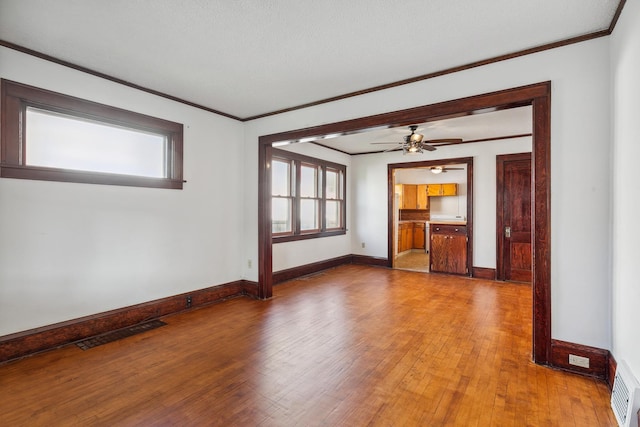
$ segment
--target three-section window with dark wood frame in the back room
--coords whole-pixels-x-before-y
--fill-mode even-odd
[[[345,234],[345,176],[344,165],[273,149],[273,241]]]

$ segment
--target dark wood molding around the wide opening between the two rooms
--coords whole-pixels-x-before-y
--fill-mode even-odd
[[[271,144],[345,131],[358,131],[382,125],[406,125],[435,117],[469,113],[491,107],[510,108],[531,105],[533,114],[532,171],[534,175],[533,215],[533,360],[550,363],[551,349],[551,82],[474,95],[406,110],[377,114],[342,122],[263,135],[258,139],[258,292],[260,298],[273,293],[271,247],[271,174],[267,161]],[[350,209],[347,206],[347,209]],[[330,238],[330,237],[328,237]],[[375,298],[375,295],[371,295]]]

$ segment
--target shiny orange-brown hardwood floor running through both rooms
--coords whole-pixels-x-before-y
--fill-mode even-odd
[[[347,265],[0,366],[0,425],[615,426],[533,364],[528,285]]]

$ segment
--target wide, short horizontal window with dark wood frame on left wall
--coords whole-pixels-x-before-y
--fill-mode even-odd
[[[179,123],[2,80],[0,176],[181,189]]]

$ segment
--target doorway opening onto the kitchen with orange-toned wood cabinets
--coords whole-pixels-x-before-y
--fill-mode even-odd
[[[447,173],[451,178],[431,172],[434,168],[444,167],[449,168]],[[453,274],[470,275],[473,259],[473,157],[395,163],[389,164],[387,169],[389,200],[392,201],[390,217],[393,219],[388,230],[391,266],[428,273],[432,270],[432,261],[435,261],[436,271],[451,269]],[[447,190],[443,191],[442,186],[447,186]],[[433,187],[439,187],[439,191],[434,191]],[[461,240],[451,239],[452,243],[459,242],[455,248],[435,245],[437,253],[432,258],[431,232],[440,232],[440,227],[437,231],[435,228],[432,230],[432,224],[455,224],[456,228],[452,230],[464,230],[465,233]],[[438,240],[437,235],[434,237],[437,242],[449,242],[448,236],[444,240]]]

